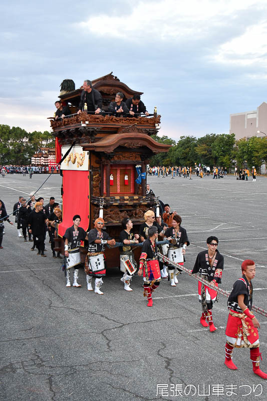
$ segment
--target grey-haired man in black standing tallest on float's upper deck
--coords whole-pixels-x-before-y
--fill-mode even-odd
[[[99,114],[102,107],[102,102],[103,99],[101,93],[96,89],[93,89],[92,82],[89,79],[86,79],[83,84],[83,91],[81,93],[79,111],[77,114],[80,114],[82,111],[84,111],[85,103],[87,104],[87,111]]]

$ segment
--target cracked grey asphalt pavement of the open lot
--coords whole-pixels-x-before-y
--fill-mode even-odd
[[[47,175],[0,178],[0,199],[8,213],[19,195],[36,190]],[[206,238],[219,239],[224,255],[220,287],[230,291],[244,259],[256,264],[253,304],[267,310],[267,178],[237,181],[233,176],[158,178],[151,189],[182,217],[191,245],[186,268],[192,268]],[[53,174],[38,196],[61,202],[61,177]],[[14,222],[14,217],[11,218]],[[1,349],[0,399],[13,400],[250,400],[267,399],[266,381],[252,372],[249,350],[234,349],[238,370],[224,365],[227,298],[213,306],[214,333],[199,323],[197,280],[186,273],[176,288],[162,280],[147,308],[142,279],[135,276],[127,292],[117,267],[104,277],[100,296],[66,288],[61,261],[30,251],[5,224],[0,250]],[[260,322],[260,367],[267,372],[267,318]]]

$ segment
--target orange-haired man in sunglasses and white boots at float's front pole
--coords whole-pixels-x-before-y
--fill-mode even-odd
[[[96,278],[95,293],[103,295],[100,288],[103,284],[102,277],[106,276],[105,266],[105,245],[115,245],[116,242],[103,230],[104,220],[98,218],[95,220],[95,228],[88,234],[88,254],[85,261],[85,273],[88,291],[93,291],[92,277]]]

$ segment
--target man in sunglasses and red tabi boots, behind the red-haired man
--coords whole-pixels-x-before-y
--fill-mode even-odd
[[[217,237],[208,237],[207,250],[199,252],[196,257],[195,265],[192,274],[199,272],[199,277],[207,280],[214,285],[214,290],[198,282],[198,298],[202,305],[202,315],[200,323],[203,327],[209,326],[209,331],[213,332],[217,328],[212,320],[212,303],[217,301],[218,293],[216,287],[221,283],[224,259],[217,250]]]

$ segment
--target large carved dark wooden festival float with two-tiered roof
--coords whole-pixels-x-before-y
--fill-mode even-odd
[[[167,152],[170,145],[151,138],[160,124],[156,112],[148,117],[108,114],[108,105],[117,92],[123,93],[123,101],[143,92],[130,89],[112,73],[93,80],[92,87],[103,98],[100,114],[77,114],[83,89],[75,89],[72,80],[65,80],[59,98],[73,114],[64,119],[50,118],[56,161],[72,147],[61,163],[63,221],[58,234],[63,237],[75,214],[81,216],[80,226],[85,231],[94,228],[100,216],[105,220],[104,229],[118,241],[124,217],[128,216],[138,230],[144,213],[156,206],[156,197],[146,196],[146,165],[153,154]],[[55,250],[63,252],[64,248],[58,243]],[[107,267],[120,265],[118,248],[107,249],[105,254]]]

